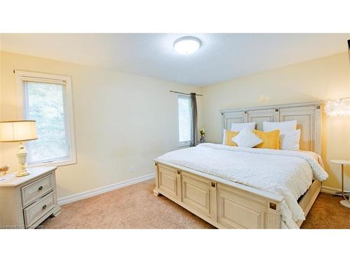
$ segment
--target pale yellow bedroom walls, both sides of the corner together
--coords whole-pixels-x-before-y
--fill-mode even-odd
[[[152,159],[177,149],[177,102],[170,89],[204,94],[198,99],[199,127],[207,130],[208,141],[220,142],[220,109],[350,96],[348,63],[346,53],[336,54],[200,89],[0,52],[0,115],[2,121],[17,118],[14,68],[71,75],[78,163],[57,172],[58,195],[64,197],[153,173]],[[261,95],[271,101],[258,101]],[[0,162],[15,170],[16,143],[1,143],[0,147]],[[322,157],[330,174],[325,186],[339,188],[340,169],[330,159],[350,159],[349,118],[323,117]],[[346,173],[350,189],[349,167]]]

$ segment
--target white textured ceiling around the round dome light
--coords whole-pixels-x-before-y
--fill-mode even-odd
[[[201,48],[174,51],[181,36]],[[1,34],[0,48],[76,64],[114,68],[205,86],[302,61],[346,52],[350,34]]]

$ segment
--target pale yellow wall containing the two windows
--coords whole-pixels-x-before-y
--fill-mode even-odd
[[[8,52],[2,52],[0,66],[2,121],[17,118],[13,69],[71,75],[78,163],[57,170],[59,198],[153,173],[152,159],[177,149],[177,100],[169,90],[201,92],[198,87]],[[1,144],[0,161],[11,170],[18,166],[17,146]]]

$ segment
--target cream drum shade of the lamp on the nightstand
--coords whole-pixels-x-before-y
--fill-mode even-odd
[[[0,122],[0,141],[17,142],[37,139],[36,121],[8,121]]]

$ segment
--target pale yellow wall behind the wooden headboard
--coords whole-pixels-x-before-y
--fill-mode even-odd
[[[344,52],[204,87],[202,115],[207,140],[220,142],[221,115],[218,110],[350,96],[349,72],[349,60]],[[258,101],[261,95],[268,96],[271,101]],[[330,159],[350,159],[350,117],[323,116],[322,157],[330,174],[324,185],[339,189],[340,168],[330,163]],[[350,167],[345,171],[346,188],[350,189]]]

